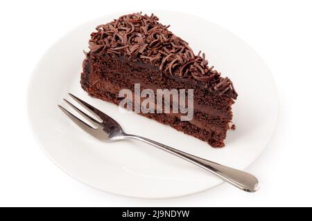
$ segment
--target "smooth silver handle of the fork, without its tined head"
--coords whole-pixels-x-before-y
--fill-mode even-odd
[[[167,151],[168,153],[176,155],[177,157],[181,157],[182,159],[187,160],[193,164],[196,164],[197,166],[200,166],[202,169],[205,169],[213,173],[214,175],[220,177],[226,182],[229,182],[229,184],[232,184],[243,191],[255,192],[259,189],[259,181],[257,180],[257,178],[254,177],[254,175],[245,173],[244,171],[239,171],[237,169],[233,169],[228,166],[223,166],[221,164],[217,164],[215,162],[211,162],[209,160],[196,157],[189,153],[179,151],[175,148],[166,146],[164,144],[160,144],[145,137],[137,135],[125,135],[124,138],[130,140],[139,140],[141,142],[145,142],[146,144],[150,144],[164,151]]]

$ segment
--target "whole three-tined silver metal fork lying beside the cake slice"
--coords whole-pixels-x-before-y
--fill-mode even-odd
[[[158,142],[147,139],[145,137],[127,134],[123,132],[123,129],[121,128],[119,123],[116,122],[116,120],[112,119],[112,117],[109,117],[105,113],[94,108],[94,106],[87,104],[86,102],[84,102],[82,99],[79,99],[75,95],[72,95],[71,93],[69,93],[69,95],[74,100],[76,100],[76,102],[78,102],[79,104],[87,108],[87,110],[96,114],[101,119],[101,121],[94,119],[94,117],[87,115],[87,113],[81,111],[79,108],[71,104],[71,102],[69,102],[67,99],[64,99],[64,102],[66,102],[67,104],[69,104],[69,106],[71,106],[73,109],[78,111],[78,113],[87,117],[87,119],[89,119],[94,125],[96,125],[97,128],[93,128],[92,126],[89,126],[88,124],[83,122],[81,119],[79,119],[78,117],[76,117],[75,115],[67,111],[64,107],[60,105],[58,106],[73,122],[75,122],[80,128],[82,128],[83,131],[96,137],[98,140],[101,140],[103,142],[114,142],[118,140],[139,140],[141,142],[145,142],[146,144],[150,144],[152,146],[160,148],[163,151],[171,153],[177,157],[181,157],[182,159],[187,160],[193,164],[196,164],[197,166],[200,166],[202,169],[205,169],[213,173],[214,175],[220,177],[226,182],[229,182],[229,184],[232,184],[243,191],[255,192],[259,189],[259,182],[257,178],[249,173],[245,173],[237,169],[232,169],[228,166],[223,166],[215,162],[211,162],[209,160],[196,157],[189,153],[179,151],[175,148],[166,146],[164,144],[160,144]]]

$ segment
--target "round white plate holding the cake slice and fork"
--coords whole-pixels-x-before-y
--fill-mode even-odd
[[[148,14],[150,12],[147,12]],[[85,23],[59,39],[35,68],[28,91],[28,113],[35,137],[46,155],[80,182],[110,193],[136,198],[173,198],[205,191],[223,181],[189,162],[139,142],[102,143],[71,122],[57,104],[67,93],[84,99],[114,117],[124,131],[156,140],[193,155],[236,169],[246,169],[261,154],[275,128],[278,100],[268,66],[248,44],[200,17],[155,11],[195,52],[229,77],[239,93],[234,104],[236,131],[227,133],[224,148],[184,135],[139,115],[89,97],[80,88],[80,72],[90,33],[108,15]],[[233,187],[234,188],[234,187]]]

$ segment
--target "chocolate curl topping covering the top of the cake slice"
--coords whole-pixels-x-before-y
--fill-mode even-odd
[[[232,81],[208,66],[205,53],[195,55],[189,44],[159,23],[155,15],[123,15],[96,27],[89,49],[94,55],[125,57],[159,68],[163,75],[195,79],[219,95],[236,99]]]

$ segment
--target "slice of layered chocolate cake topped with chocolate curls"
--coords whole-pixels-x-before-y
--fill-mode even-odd
[[[176,113],[140,113],[213,147],[224,146],[237,97],[232,81],[208,66],[205,54],[159,23],[155,15],[123,15],[96,27],[85,52],[81,86],[92,97],[119,105],[119,91],[193,89],[193,119]],[[189,27],[191,29],[191,27]]]

